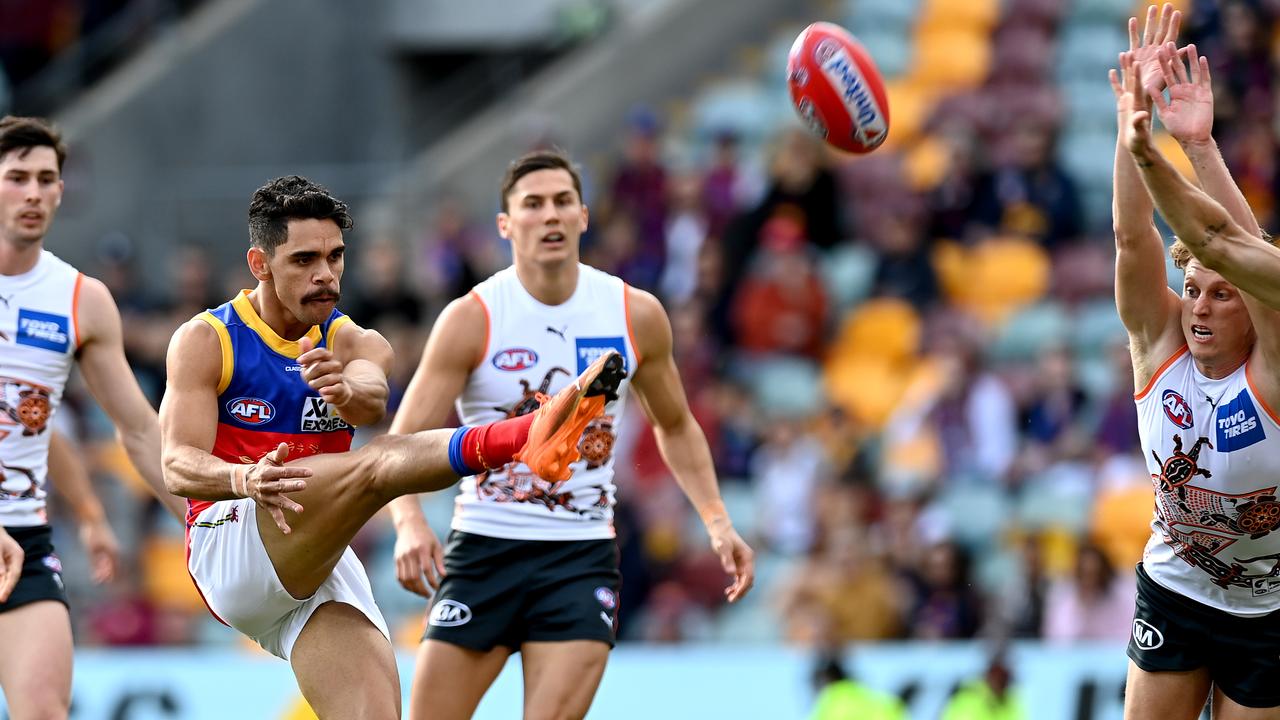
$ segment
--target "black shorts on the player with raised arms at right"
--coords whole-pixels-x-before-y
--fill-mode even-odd
[[[1240,618],[1201,605],[1152,580],[1140,562],[1129,657],[1148,673],[1208,667],[1244,707],[1280,706],[1280,612]]]

